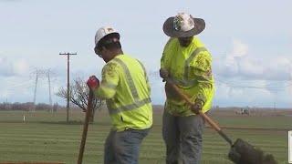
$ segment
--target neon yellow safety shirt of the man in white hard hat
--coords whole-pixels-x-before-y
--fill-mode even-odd
[[[146,70],[128,55],[114,57],[102,68],[102,80],[95,90],[105,98],[113,128],[145,129],[152,125],[151,87]]]

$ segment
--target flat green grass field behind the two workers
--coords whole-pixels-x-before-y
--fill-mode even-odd
[[[23,114],[26,122],[23,123]],[[292,118],[276,117],[212,117],[226,127],[291,128]],[[5,161],[63,161],[77,163],[84,113],[70,113],[70,125],[65,123],[66,113],[24,113],[0,110],[0,163]],[[154,114],[150,135],[141,146],[140,163],[164,163],[165,148],[162,140],[162,114]],[[106,112],[97,112],[95,123],[89,126],[84,154],[85,164],[102,163],[103,144],[110,130]],[[244,138],[252,145],[272,153],[279,164],[287,163],[287,130],[224,129],[231,138]],[[203,135],[203,159],[205,164],[229,164],[226,155],[229,146],[211,128]]]

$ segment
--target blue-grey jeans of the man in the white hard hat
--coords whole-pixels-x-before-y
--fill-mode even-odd
[[[141,141],[149,130],[110,131],[104,145],[104,164],[138,164]]]

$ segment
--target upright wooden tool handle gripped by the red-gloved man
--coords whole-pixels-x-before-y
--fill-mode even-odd
[[[83,125],[83,133],[82,133],[82,138],[81,138],[81,143],[80,143],[80,148],[79,148],[79,155],[78,155],[78,164],[82,164],[86,138],[88,136],[89,117],[92,113],[92,101],[93,101],[93,92],[91,89],[89,89],[88,109],[86,111],[85,122]]]

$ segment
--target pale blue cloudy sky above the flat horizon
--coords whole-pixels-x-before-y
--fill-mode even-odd
[[[158,75],[162,31],[170,16],[203,18],[198,35],[213,56],[214,106],[290,108],[292,105],[292,1],[94,1],[0,0],[0,102],[33,101],[36,69],[50,70],[53,102],[71,80],[100,77],[104,62],[93,51],[101,26],[120,32],[123,51],[145,65],[153,104],[165,94]],[[48,79],[40,76],[36,102],[48,103]]]

